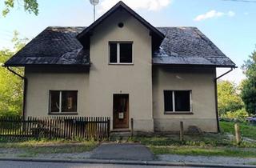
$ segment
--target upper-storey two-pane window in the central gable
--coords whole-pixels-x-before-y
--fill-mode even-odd
[[[133,62],[132,42],[110,42],[110,63],[131,64]]]

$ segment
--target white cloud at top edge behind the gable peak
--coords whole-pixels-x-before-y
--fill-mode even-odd
[[[102,14],[106,10],[110,10],[120,0],[102,0],[99,4],[98,13]],[[161,10],[170,4],[172,0],[122,0],[127,6],[130,6],[133,10],[144,9],[144,10]]]

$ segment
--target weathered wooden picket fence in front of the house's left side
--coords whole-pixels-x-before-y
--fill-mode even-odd
[[[110,118],[0,117],[0,138],[109,138]]]

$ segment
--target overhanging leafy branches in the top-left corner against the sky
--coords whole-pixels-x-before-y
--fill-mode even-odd
[[[10,9],[14,8],[15,4],[18,4],[18,6],[23,6],[24,10],[28,11],[29,13],[34,13],[35,15],[38,15],[37,0],[22,0],[22,3],[20,3],[19,0],[5,0],[5,8],[2,10],[2,16],[6,17],[6,15],[10,12]]]

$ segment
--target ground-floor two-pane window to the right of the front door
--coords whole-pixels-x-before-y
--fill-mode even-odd
[[[191,112],[191,90],[164,90],[166,112]]]

